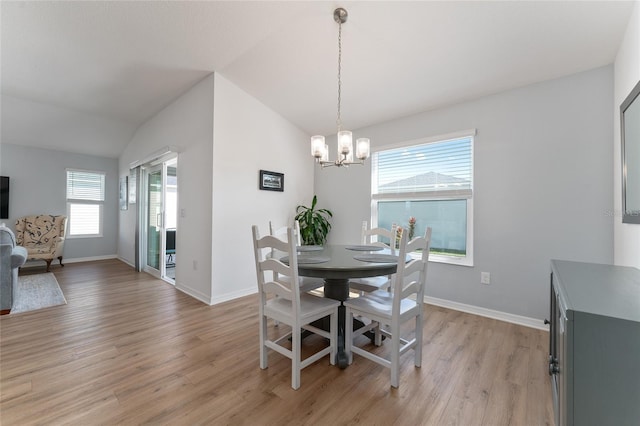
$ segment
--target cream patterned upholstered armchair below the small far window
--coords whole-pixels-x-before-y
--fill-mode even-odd
[[[16,221],[16,240],[27,249],[27,259],[47,262],[47,272],[53,259],[62,264],[62,250],[67,228],[66,216],[25,216]]]

